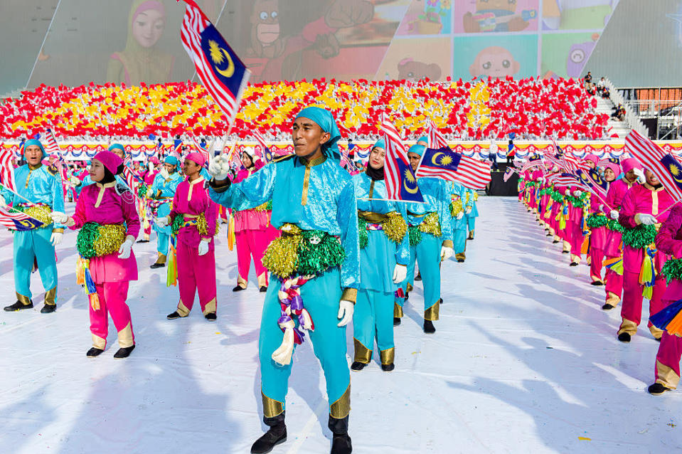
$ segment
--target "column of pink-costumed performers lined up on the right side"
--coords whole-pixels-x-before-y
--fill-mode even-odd
[[[617,161],[600,161],[594,154],[584,158],[585,167],[597,169],[608,182],[606,200],[552,184],[553,174],[565,171],[556,165],[547,173],[524,172],[519,200],[536,215],[550,240],[563,246],[570,266],[585,256],[590,283],[605,289],[602,310],[621,305],[622,322],[615,333],[620,342],[630,342],[637,334],[642,302],[649,300],[647,325],[660,342],[649,393],[663,394],[676,389],[680,379],[682,338],[657,320],[669,321],[670,314],[661,316],[682,299],[682,205],[674,204],[654,173],[636,159]]]

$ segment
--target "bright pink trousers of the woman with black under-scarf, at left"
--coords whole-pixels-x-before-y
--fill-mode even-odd
[[[90,304],[90,333],[92,333],[93,347],[102,350],[107,347],[109,315],[112,316],[118,332],[119,347],[131,347],[135,344],[130,309],[125,302],[128,297],[128,284],[127,280],[95,284],[97,297],[100,299],[100,308],[92,309],[92,304]]]

